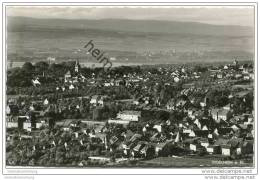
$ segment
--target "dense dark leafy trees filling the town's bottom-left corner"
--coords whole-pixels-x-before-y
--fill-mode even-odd
[[[84,142],[83,145],[75,140],[73,134],[62,132],[58,128],[43,130],[40,137],[33,139],[20,140],[16,134],[7,144],[6,161],[8,165],[15,166],[79,166],[82,161],[84,165],[97,164],[88,157],[102,153],[104,146],[101,140],[84,135],[80,139]],[[55,144],[52,143],[53,140],[56,141]]]

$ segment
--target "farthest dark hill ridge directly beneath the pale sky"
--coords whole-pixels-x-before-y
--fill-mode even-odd
[[[246,26],[220,26],[195,22],[157,21],[157,20],[69,20],[69,19],[34,19],[27,17],[8,17],[8,30],[23,28],[49,29],[99,29],[109,31],[127,31],[143,33],[195,34],[210,36],[252,36],[253,28]]]

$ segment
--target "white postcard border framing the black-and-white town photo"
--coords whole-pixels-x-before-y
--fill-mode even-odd
[[[4,3],[7,2],[7,1],[4,1]],[[14,1],[13,1],[14,2]],[[17,1],[16,1],[17,2]],[[26,1],[25,1],[26,2]],[[172,6],[172,5],[178,5],[178,6],[182,6],[182,5],[190,5],[190,6],[193,6],[193,5],[201,5],[201,6],[207,6],[207,5],[210,5],[210,6],[213,6],[213,5],[224,5],[224,6],[232,6],[232,5],[241,5],[241,6],[254,6],[255,7],[255,24],[258,25],[258,18],[257,18],[257,4],[256,3],[234,3],[234,2],[229,2],[229,3],[226,3],[226,1],[223,1],[225,3],[222,3],[221,1],[217,2],[217,3],[207,3],[207,2],[204,2],[204,3],[198,3],[198,2],[191,2],[191,3],[157,3],[157,2],[153,2],[153,3],[68,3],[68,2],[64,2],[64,1],[60,1],[62,3],[25,3],[25,2],[20,2],[20,3],[12,3],[12,1],[9,1],[5,4],[2,4],[3,5],[3,13],[5,13],[5,6],[6,5],[60,5],[60,6],[66,6],[66,5],[88,5],[88,6],[100,6],[100,5],[111,5],[111,6],[115,6],[115,5],[122,5],[122,6],[142,6],[142,5],[145,5],[145,6],[148,6],[148,5],[164,5],[164,6]],[[102,2],[105,2],[105,1],[102,1]],[[1,14],[2,14],[2,9],[1,9]],[[1,24],[5,24],[5,19],[3,18],[3,21],[1,22]],[[1,31],[2,31],[2,28],[1,28]],[[2,51],[2,45],[4,46],[3,48],[5,49],[5,36],[6,36],[6,32],[5,32],[5,28],[3,28],[3,44],[1,44],[1,51]],[[255,69],[257,69],[258,67],[258,62],[257,62],[257,57],[258,57],[258,47],[257,47],[257,26],[255,26]],[[2,55],[3,55],[3,61],[1,61],[1,67],[2,67],[2,71],[5,71],[5,67],[6,67],[6,64],[5,64],[5,58],[6,57],[6,52],[2,52]],[[258,85],[258,72],[255,72],[255,99],[257,99],[257,85]],[[0,108],[3,110],[3,112],[5,112],[5,79],[6,79],[6,74],[3,73],[3,76],[1,76],[1,83],[2,83],[2,88],[1,88],[1,92],[3,94],[3,98],[2,98],[2,102],[1,102],[1,105],[0,105]],[[255,111],[257,112],[258,110],[258,106],[257,104],[255,104]],[[255,116],[255,119],[256,119],[256,127],[258,127],[258,123],[257,123],[257,119],[258,117]],[[5,113],[2,114],[2,126],[4,125],[5,123]],[[255,128],[256,129],[256,128]],[[255,131],[255,137],[257,137],[258,135],[258,132]],[[4,135],[4,136],[2,136]],[[5,128],[3,128],[3,133],[1,133],[1,143],[2,141],[5,142]],[[258,138],[256,139],[255,142],[258,141]],[[258,152],[258,149],[257,149],[257,146],[255,146],[256,149],[255,149],[255,152]],[[1,154],[2,152],[4,152],[3,150],[5,149],[5,146],[3,147],[3,149],[1,149]],[[257,157],[257,154],[258,153],[255,153],[255,160],[258,159]],[[202,173],[202,170],[209,170],[209,168],[206,168],[206,169],[196,169],[196,168],[164,168],[164,169],[158,169],[158,168],[145,168],[145,169],[133,169],[133,168],[129,168],[129,169],[125,169],[125,168],[72,168],[72,169],[68,169],[68,168],[55,168],[55,169],[50,169],[50,168],[30,168],[30,167],[11,167],[11,169],[6,169],[5,168],[5,155],[2,157],[1,155],[1,162],[4,163],[4,169],[3,169],[3,174],[24,174],[24,175],[28,175],[28,174],[197,174],[197,175],[205,175],[205,173],[203,174]],[[4,161],[3,161],[4,160]],[[2,163],[1,163],[1,166],[2,166]],[[250,174],[256,174],[257,173],[257,163],[255,163],[255,168],[225,168],[225,170],[244,170],[244,175],[250,175]],[[2,168],[2,167],[1,167]],[[247,170],[252,170],[251,173],[246,173]],[[208,173],[210,175],[212,174],[227,174],[227,173],[218,173],[220,172],[221,170],[223,171],[224,168],[210,168],[210,170],[213,170],[215,171],[215,173]],[[213,172],[212,171],[212,172]],[[228,173],[228,174],[235,174],[235,173]],[[241,173],[240,173],[241,174]],[[105,178],[105,177],[104,177]]]

